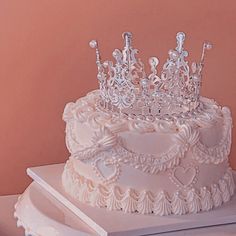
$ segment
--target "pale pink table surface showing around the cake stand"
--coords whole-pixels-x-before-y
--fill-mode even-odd
[[[0,196],[0,236],[24,235],[24,230],[22,228],[16,227],[16,220],[14,219],[13,216],[14,205],[17,201],[17,198],[18,195]],[[234,236],[234,235],[236,236],[236,224],[228,224],[228,225],[158,234],[158,236]]]

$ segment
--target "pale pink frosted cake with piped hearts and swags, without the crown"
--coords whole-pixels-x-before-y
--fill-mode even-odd
[[[97,91],[64,111],[71,153],[62,182],[79,201],[127,213],[182,215],[230,200],[228,108],[201,98],[191,114],[166,120],[97,110]]]

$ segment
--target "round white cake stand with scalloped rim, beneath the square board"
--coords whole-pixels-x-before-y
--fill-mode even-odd
[[[98,235],[35,181],[18,198],[14,216],[27,236]]]

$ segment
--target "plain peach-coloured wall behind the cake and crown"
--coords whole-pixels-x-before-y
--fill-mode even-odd
[[[132,31],[140,56],[162,64],[177,31],[187,34],[190,59],[211,40],[202,94],[228,105],[236,121],[235,23],[234,0],[0,0],[0,195],[26,188],[27,167],[68,158],[62,112],[97,87],[93,38],[111,58]],[[234,142],[236,169],[235,156]]]

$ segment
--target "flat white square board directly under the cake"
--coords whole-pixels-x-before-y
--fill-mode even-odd
[[[99,235],[148,235],[236,222],[236,196],[222,207],[209,212],[183,216],[125,214],[76,202],[61,184],[64,164],[28,168],[28,175],[69,208]]]

